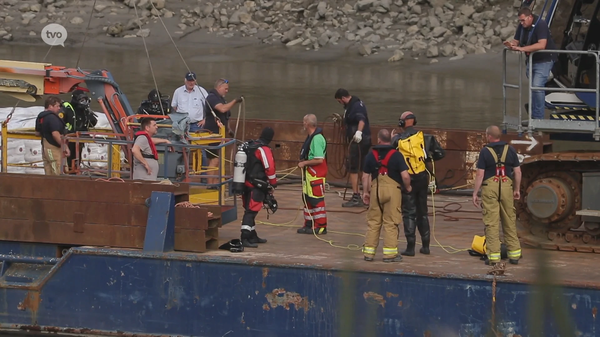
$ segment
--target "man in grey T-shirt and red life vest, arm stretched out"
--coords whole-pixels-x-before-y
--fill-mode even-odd
[[[152,138],[158,132],[154,118],[142,118],[140,131],[135,135],[133,143],[133,179],[157,180],[158,152],[157,144],[171,143],[167,139]]]

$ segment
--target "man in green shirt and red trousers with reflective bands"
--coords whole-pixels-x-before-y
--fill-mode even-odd
[[[327,234],[327,213],[325,212],[325,177],[327,161],[325,148],[327,143],[323,137],[323,129],[317,128],[317,117],[313,114],[304,116],[304,130],[308,136],[300,151],[298,167],[303,169],[302,203],[304,204],[304,227],[298,229],[300,234]]]

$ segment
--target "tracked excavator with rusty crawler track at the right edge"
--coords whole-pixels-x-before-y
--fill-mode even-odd
[[[532,89],[538,89],[532,87],[531,76],[529,104],[523,104],[523,61],[533,53],[518,55],[520,82],[511,85],[506,82],[505,49],[504,130],[517,131],[524,138],[520,142],[529,142],[532,148],[538,146],[533,134],[548,134],[554,141],[577,141],[581,150],[550,150],[524,158],[521,198],[515,202],[520,239],[545,249],[600,253],[600,152],[585,150],[590,142],[600,141],[600,0],[547,0],[538,4],[541,10],[534,8],[535,0],[524,0],[521,7],[539,13],[559,48],[554,51],[558,61],[542,89],[545,108],[551,113],[549,119],[531,118]],[[507,113],[506,95],[511,88],[519,91],[518,116]]]

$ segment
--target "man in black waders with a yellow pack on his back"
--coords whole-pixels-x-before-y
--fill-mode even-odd
[[[402,255],[415,256],[415,229],[421,235],[421,254],[429,254],[430,230],[427,210],[427,197],[430,195],[429,185],[434,181],[433,169],[428,169],[426,163],[442,159],[446,154],[436,138],[416,130],[416,116],[412,112],[404,112],[398,126],[402,132],[394,136],[392,145],[398,149],[409,167],[410,185],[412,191],[402,190],[402,219],[406,250]]]

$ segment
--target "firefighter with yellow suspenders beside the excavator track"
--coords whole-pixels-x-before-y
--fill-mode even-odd
[[[477,192],[481,190],[483,221],[485,224],[485,264],[495,266],[500,262],[500,224],[510,263],[521,258],[521,245],[517,237],[514,200],[520,198],[521,167],[517,151],[500,141],[500,128],[485,130],[488,144],[479,152],[477,174],[473,189],[473,204],[479,207]]]

